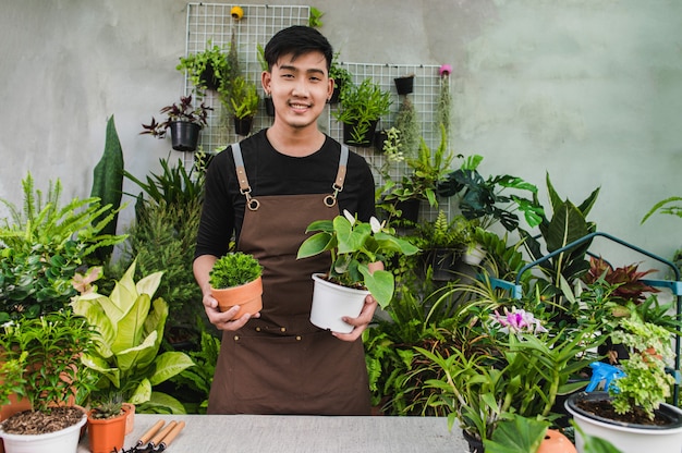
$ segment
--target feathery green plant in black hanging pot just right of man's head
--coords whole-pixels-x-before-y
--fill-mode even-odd
[[[389,113],[391,94],[372,78],[365,78],[360,85],[344,85],[339,102],[339,110],[332,114],[343,123],[343,143],[372,146],[379,119]]]

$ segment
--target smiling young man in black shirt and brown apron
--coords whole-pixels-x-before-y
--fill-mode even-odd
[[[343,209],[367,221],[375,212],[367,162],[317,128],[333,89],[332,54],[314,28],[277,33],[265,48],[261,75],[275,103],[272,126],[242,140],[236,152],[238,146],[228,147],[208,169],[194,274],[208,319],[223,331],[209,414],[369,414],[360,336],[377,304],[367,296],[360,316],[346,320],[351,333],[316,328],[310,274],[327,271],[329,257],[296,260],[312,221]],[[235,166],[235,158],[243,163]],[[264,266],[263,310],[236,320],[238,307],[220,313],[208,283],[233,234],[236,248]]]

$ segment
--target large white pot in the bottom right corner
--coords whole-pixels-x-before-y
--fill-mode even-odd
[[[600,397],[598,392],[593,397]],[[588,436],[608,440],[621,453],[680,453],[682,451],[682,411],[670,404],[661,404],[661,411],[677,417],[678,423],[671,427],[651,427],[648,425],[623,424],[596,417],[575,407],[575,400],[589,393],[571,395],[564,403],[567,411],[573,416],[575,424]],[[605,397],[605,396],[601,396]],[[584,452],[584,441],[575,432],[575,448]]]

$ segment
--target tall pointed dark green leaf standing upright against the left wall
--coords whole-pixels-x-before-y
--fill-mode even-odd
[[[115,130],[113,115],[107,121],[107,137],[105,139],[105,151],[101,159],[95,166],[93,172],[93,188],[90,197],[97,197],[102,205],[110,205],[115,211],[113,218],[102,229],[103,234],[114,235],[118,223],[118,210],[121,207],[123,196],[123,150]],[[100,221],[105,216],[100,216]],[[102,247],[98,250],[99,259],[105,262],[111,256],[113,247]]]

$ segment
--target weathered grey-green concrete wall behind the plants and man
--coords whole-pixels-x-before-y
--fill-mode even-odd
[[[452,64],[454,147],[483,155],[484,174],[522,176],[544,195],[548,172],[573,201],[601,186],[600,231],[665,257],[681,245],[682,220],[640,220],[682,195],[682,2],[312,5],[345,61]],[[38,184],[61,179],[65,197],[88,195],[111,114],[126,169],[157,171],[170,147],[139,124],[182,90],[185,16],[180,0],[0,0],[0,197],[21,203],[28,171]],[[605,249],[616,264],[642,259]]]

